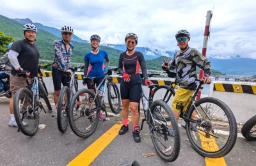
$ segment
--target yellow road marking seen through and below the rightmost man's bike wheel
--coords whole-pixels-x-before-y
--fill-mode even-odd
[[[219,149],[218,145],[215,142],[214,137],[210,136],[209,138],[204,137],[204,132],[198,131],[198,135],[201,140],[203,149],[206,151],[217,151]],[[211,150],[212,149],[212,150]],[[206,166],[227,166],[225,159],[221,158],[207,158],[205,157]]]

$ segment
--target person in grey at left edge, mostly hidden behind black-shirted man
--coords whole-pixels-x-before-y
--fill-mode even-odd
[[[0,65],[5,64],[5,72],[0,72],[0,93],[5,93],[4,92],[4,87],[2,85],[1,79],[10,79],[10,73],[12,70],[12,64],[10,63],[8,59],[8,53],[10,48],[12,47],[12,43],[8,45],[8,50],[4,54],[4,56],[0,59]]]

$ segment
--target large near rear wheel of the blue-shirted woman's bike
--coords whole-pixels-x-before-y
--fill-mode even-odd
[[[81,97],[79,113],[73,116],[74,105],[77,97]],[[100,108],[99,100],[96,98],[93,102],[95,94],[89,89],[80,89],[71,99],[68,110],[68,121],[72,131],[79,137],[89,137],[95,132],[99,123]],[[92,106],[92,107],[91,107]]]

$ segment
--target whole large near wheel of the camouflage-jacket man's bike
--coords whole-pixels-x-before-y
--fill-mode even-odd
[[[217,98],[201,98],[191,105],[186,132],[193,148],[202,156],[220,158],[227,155],[237,139],[237,124],[230,108]]]

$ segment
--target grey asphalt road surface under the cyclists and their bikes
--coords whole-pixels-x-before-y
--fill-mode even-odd
[[[65,133],[59,132],[56,117],[52,117],[54,113],[41,112],[40,124],[46,124],[45,129],[38,128],[38,132],[33,137],[28,137],[17,132],[17,128],[8,126],[9,101],[7,98],[0,98],[0,165],[67,165],[121,120],[120,116],[114,116],[110,117],[109,121],[100,121],[95,133],[83,139],[77,137],[69,126]],[[140,143],[132,139],[131,126],[132,124],[129,123],[129,132],[125,135],[117,135],[90,165],[120,165],[125,161],[131,164],[134,160],[141,165],[206,165],[205,158],[198,155],[191,147],[183,128],[180,128],[182,136],[180,155],[175,162],[163,162],[159,156],[144,158],[142,153],[156,152],[148,133],[148,126],[145,124],[141,131]],[[255,155],[256,142],[238,137],[235,147],[224,158],[227,165],[255,165]],[[211,163],[219,165],[214,164],[214,160]]]

